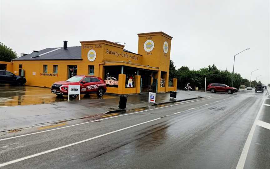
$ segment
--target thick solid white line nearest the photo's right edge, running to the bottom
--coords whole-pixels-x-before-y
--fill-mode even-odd
[[[245,165],[245,162],[246,162],[246,158],[247,158],[247,152],[248,152],[249,146],[251,144],[251,140],[252,140],[253,134],[255,132],[257,120],[258,120],[258,118],[259,118],[259,116],[260,116],[260,114],[262,112],[264,101],[265,101],[265,99],[262,102],[261,108],[260,108],[260,110],[259,110],[259,112],[258,112],[258,114],[257,114],[257,116],[256,116],[256,118],[254,120],[254,123],[253,123],[253,125],[251,127],[251,130],[250,130],[250,132],[248,134],[247,141],[246,141],[246,143],[244,145],[244,148],[242,150],[242,153],[241,153],[241,156],[240,156],[239,161],[237,163],[236,169],[242,169],[242,168],[244,168],[244,165]]]

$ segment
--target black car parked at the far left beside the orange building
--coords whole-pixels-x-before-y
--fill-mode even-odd
[[[21,86],[26,83],[26,79],[23,76],[14,75],[9,71],[0,70],[0,83]]]

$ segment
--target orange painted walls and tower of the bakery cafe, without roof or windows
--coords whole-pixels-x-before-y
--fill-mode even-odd
[[[158,73],[156,77],[158,79],[158,84],[160,84],[161,71],[167,72],[165,75],[165,85],[164,89],[161,89],[158,85],[158,92],[169,91],[168,88],[168,73],[169,73],[169,61],[170,61],[170,47],[172,37],[164,34],[163,32],[145,33],[138,34],[138,54],[133,54],[130,52],[124,52],[123,45],[116,44],[109,41],[81,41],[81,57],[82,60],[13,60],[12,68],[8,69],[16,71],[16,75],[19,72],[19,64],[22,64],[22,69],[24,70],[25,77],[27,79],[26,85],[40,86],[40,87],[51,87],[51,85],[56,81],[67,80],[68,78],[68,65],[77,65],[77,75],[88,75],[88,66],[94,65],[94,76],[99,76],[103,78],[104,75],[104,65],[127,65],[148,70],[156,70]],[[154,48],[151,52],[146,52],[143,48],[144,42],[148,39],[154,42]],[[163,51],[164,41],[168,42],[168,53],[165,54]],[[88,60],[89,50],[94,50],[96,52],[95,60]],[[148,55],[151,53],[152,55]],[[121,63],[115,63],[121,61]],[[124,62],[126,63],[124,63]],[[114,62],[114,63],[108,63]],[[133,65],[132,65],[133,64]],[[137,65],[134,65],[137,64]],[[58,73],[56,76],[44,76],[43,65],[48,65],[48,74],[53,74],[53,65],[58,65]],[[145,66],[140,66],[145,65]],[[152,66],[153,68],[148,67]],[[33,74],[35,72],[35,75]],[[122,77],[123,76],[123,77]],[[119,82],[121,78],[125,80],[125,75],[119,74]],[[136,88],[125,88],[124,84],[119,85],[117,89],[108,87],[108,93],[116,94],[132,94],[139,93],[140,81],[135,81]]]

